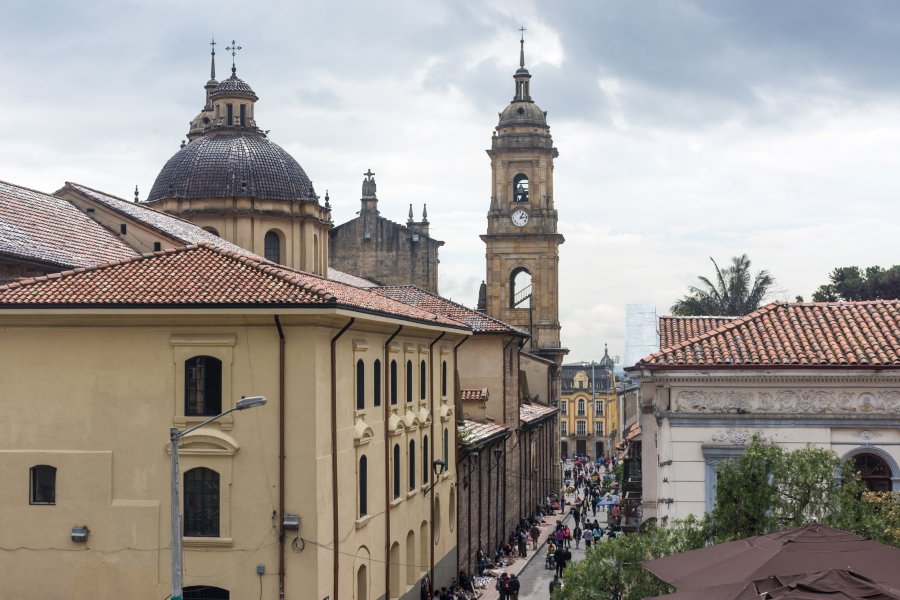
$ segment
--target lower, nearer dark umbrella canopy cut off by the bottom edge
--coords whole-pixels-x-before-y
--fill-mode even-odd
[[[859,573],[829,569],[807,575],[767,577],[748,583],[727,584],[676,592],[649,600],[900,600],[900,591],[875,583]]]

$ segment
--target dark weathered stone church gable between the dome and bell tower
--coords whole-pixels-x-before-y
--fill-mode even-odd
[[[406,225],[381,216],[375,174],[369,169],[362,184],[359,216],[328,233],[331,266],[379,285],[414,285],[438,291],[438,249],[444,242],[429,235],[428,208],[422,220],[409,207]]]

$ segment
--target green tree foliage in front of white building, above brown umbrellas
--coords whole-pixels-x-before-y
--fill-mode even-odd
[[[640,563],[816,520],[900,547],[900,493],[866,492],[853,461],[831,450],[785,450],[758,436],[736,460],[719,465],[716,506],[668,528],[609,540],[566,568],[555,600],[639,600],[672,588]]]

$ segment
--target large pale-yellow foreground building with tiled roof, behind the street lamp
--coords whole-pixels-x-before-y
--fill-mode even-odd
[[[3,597],[164,597],[168,431],[251,395],[180,448],[186,598],[446,584],[469,333],[369,295],[209,246],[0,287]]]

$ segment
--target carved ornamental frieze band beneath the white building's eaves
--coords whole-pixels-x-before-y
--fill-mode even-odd
[[[863,392],[835,390],[690,390],[679,392],[675,412],[693,413],[803,413],[897,414],[900,390]]]

